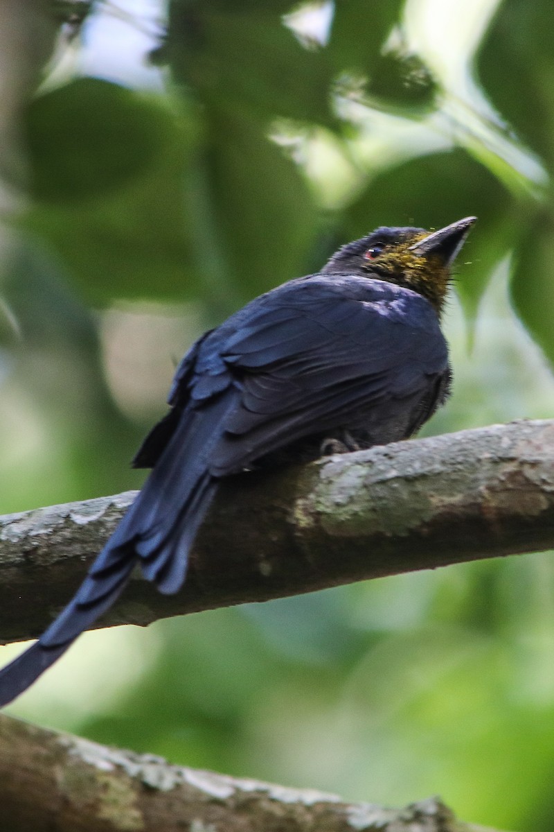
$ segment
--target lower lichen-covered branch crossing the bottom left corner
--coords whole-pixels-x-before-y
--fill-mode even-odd
[[[0,752],[2,829],[487,832],[455,820],[437,799],[402,810],[343,803],[312,789],[170,765],[7,716],[0,716]]]

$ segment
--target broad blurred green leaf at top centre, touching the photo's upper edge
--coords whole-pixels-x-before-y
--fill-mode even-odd
[[[161,57],[179,83],[212,107],[237,106],[261,121],[328,122],[326,50],[302,47],[278,6],[174,2]]]

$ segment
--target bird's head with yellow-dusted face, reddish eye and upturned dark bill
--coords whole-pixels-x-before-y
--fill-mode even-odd
[[[444,304],[450,268],[477,218],[423,228],[378,228],[361,240],[343,245],[321,270],[323,274],[376,277],[424,295],[437,312]]]

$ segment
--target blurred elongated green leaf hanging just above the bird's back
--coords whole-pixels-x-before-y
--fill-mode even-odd
[[[218,140],[208,157],[217,244],[250,297],[302,274],[316,208],[297,166],[255,121],[217,109],[209,124]]]

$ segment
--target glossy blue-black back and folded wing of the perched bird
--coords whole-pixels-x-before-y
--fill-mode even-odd
[[[382,405],[390,408],[382,417],[390,418],[402,399],[432,399],[436,380],[447,373],[447,347],[432,306],[380,280],[293,281],[238,323],[218,344],[218,358],[242,393],[210,456],[217,476],[311,432],[336,428],[356,408]],[[213,359],[210,364],[215,367]],[[201,376],[199,384],[209,389],[213,381]],[[199,389],[192,394],[198,397]]]

